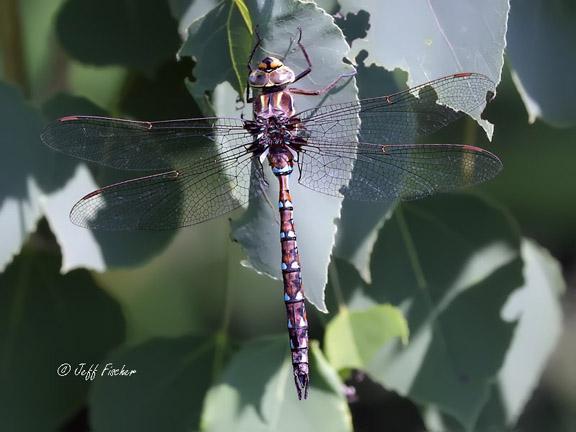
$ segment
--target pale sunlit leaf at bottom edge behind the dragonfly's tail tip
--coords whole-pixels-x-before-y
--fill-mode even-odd
[[[202,430],[330,432],[352,431],[348,405],[336,372],[311,346],[311,389],[299,401],[285,336],[245,345],[228,364],[221,383],[204,404]]]

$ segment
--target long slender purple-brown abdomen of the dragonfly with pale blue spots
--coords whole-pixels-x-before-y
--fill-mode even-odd
[[[287,167],[289,168],[287,169]],[[292,172],[291,164],[288,164],[287,167],[276,170],[274,166],[272,168],[280,183],[278,207],[280,210],[280,244],[282,248],[281,266],[294,383],[296,384],[298,399],[306,399],[310,381],[308,368],[308,320],[306,318],[306,305],[302,291],[296,230],[292,219],[294,208],[288,188],[288,178]]]

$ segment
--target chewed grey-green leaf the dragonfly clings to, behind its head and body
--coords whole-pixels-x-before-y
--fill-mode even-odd
[[[247,1],[246,5],[252,22],[259,26],[263,38],[263,49],[257,51],[257,58],[274,55],[283,58],[296,72],[303,71],[306,62],[294,43],[294,38],[298,36],[298,27],[303,29],[302,42],[308,49],[313,71],[298,83],[298,87],[317,89],[351,70],[350,66],[342,62],[347,53],[342,33],[334,25],[332,18],[314,4],[287,0],[253,0]],[[237,98],[243,95],[233,90],[238,90],[238,85],[230,56],[227,54],[230,52],[225,13],[228,6],[229,3],[226,2],[192,24],[180,55],[192,56],[197,61],[197,80],[189,85],[197,100],[200,99],[202,103],[205,92],[216,87],[212,108],[218,115],[239,117],[244,108],[244,114],[249,116],[250,107],[242,107],[236,103]],[[207,32],[210,32],[210,38],[206,38]],[[213,53],[219,55],[214,56]],[[244,59],[245,63],[246,61]],[[343,84],[346,84],[346,81],[343,81]],[[355,95],[354,87],[347,85],[337,88],[325,97],[297,98],[296,105],[298,110],[305,110],[321,103],[352,100]],[[264,168],[269,171],[267,166]],[[322,196],[300,186],[297,175],[295,173],[293,176],[291,191],[294,196],[304,287],[308,299],[321,310],[325,310],[324,286],[336,231],[334,220],[339,216],[341,200]],[[246,249],[253,267],[280,277],[277,180],[274,177],[269,177],[268,180],[271,185],[270,193],[251,203],[246,216],[234,224],[233,235]]]

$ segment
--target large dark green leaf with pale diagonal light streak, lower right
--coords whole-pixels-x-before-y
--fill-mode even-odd
[[[366,371],[377,382],[471,427],[512,342],[501,317],[522,285],[520,238],[506,214],[469,195],[402,204],[371,260],[373,302],[402,305],[408,345],[389,345]]]

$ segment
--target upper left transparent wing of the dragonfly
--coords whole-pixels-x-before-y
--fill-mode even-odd
[[[124,170],[185,167],[254,140],[241,120],[227,118],[143,122],[70,116],[49,124],[41,136],[62,153]]]

